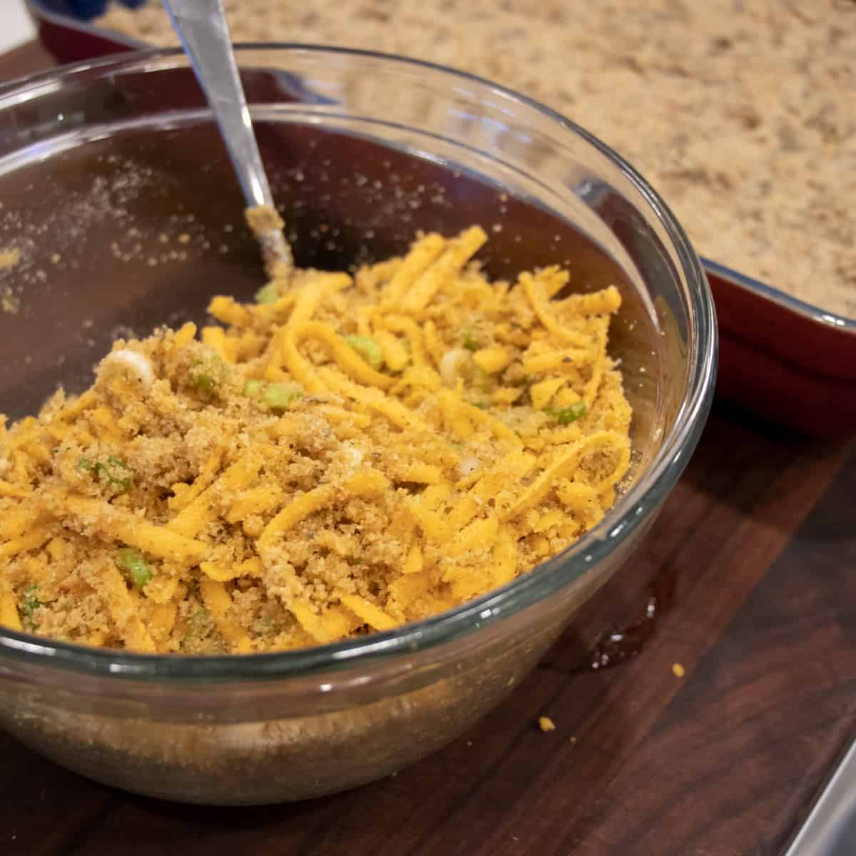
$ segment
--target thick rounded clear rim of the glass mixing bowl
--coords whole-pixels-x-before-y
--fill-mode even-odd
[[[586,140],[592,147],[615,164],[624,177],[643,196],[651,211],[669,235],[687,280],[691,329],[696,336],[691,338],[688,348],[687,395],[675,417],[675,424],[663,438],[663,445],[630,490],[610,509],[601,523],[587,532],[568,550],[547,562],[532,568],[496,591],[462,604],[448,612],[402,625],[395,630],[372,633],[359,639],[346,639],[332,645],[318,645],[297,651],[251,655],[222,655],[191,657],[175,654],[137,654],[113,649],[91,648],[73,645],[52,639],[17,633],[0,628],[0,658],[40,663],[56,669],[93,676],[110,676],[135,681],[168,683],[198,682],[243,682],[270,681],[271,679],[296,677],[298,675],[323,674],[340,669],[366,669],[370,664],[393,657],[413,656],[418,651],[445,645],[475,633],[481,627],[501,621],[510,615],[550,597],[564,586],[590,572],[612,550],[618,548],[638,526],[660,505],[663,498],[675,486],[687,460],[698,443],[704,421],[710,410],[716,383],[716,356],[718,338],[716,311],[710,288],[698,256],[690,241],[677,222],[669,206],[657,192],[609,146],[589,134],[575,122],[571,122],[555,110],[532,98],[514,92],[474,74],[457,71],[433,62],[415,60],[407,56],[384,54],[377,51],[358,51],[328,45],[304,45],[300,43],[242,43],[235,45],[239,56],[251,51],[281,52],[288,54],[309,52],[330,56],[354,56],[383,63],[401,63],[423,68],[430,73],[449,75],[456,80],[467,81],[482,90],[493,92],[513,102],[536,110],[551,122],[566,129],[570,134]],[[128,51],[96,60],[76,62],[32,76],[11,80],[0,86],[0,108],[14,95],[30,92],[38,97],[39,89],[45,84],[55,88],[58,81],[74,78],[75,75],[111,69],[116,73],[146,70],[161,70],[152,63],[174,58],[187,65],[181,48],[155,48],[144,51]]]

